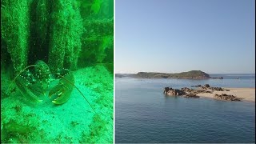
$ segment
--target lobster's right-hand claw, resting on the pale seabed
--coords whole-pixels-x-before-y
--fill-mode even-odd
[[[55,98],[52,102],[54,104],[63,104],[66,101],[69,100],[70,94],[74,88],[74,75],[73,74],[67,74],[62,79],[60,79],[60,82],[57,86],[54,86],[52,90],[49,92],[49,97],[51,98],[53,95],[57,98]]]

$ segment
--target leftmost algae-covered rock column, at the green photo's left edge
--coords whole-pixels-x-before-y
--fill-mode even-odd
[[[17,74],[27,63],[29,30],[29,6],[26,0],[1,1],[1,36]]]

